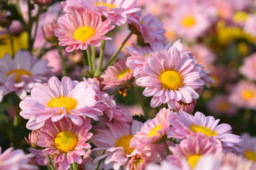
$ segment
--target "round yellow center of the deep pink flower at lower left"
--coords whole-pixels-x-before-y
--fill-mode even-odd
[[[54,145],[58,150],[61,150],[61,152],[67,153],[74,150],[77,145],[76,134],[68,131],[60,132],[54,139]]]

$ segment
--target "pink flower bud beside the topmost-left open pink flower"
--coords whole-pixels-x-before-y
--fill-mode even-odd
[[[56,25],[56,21],[50,22],[47,25],[42,26],[44,38],[50,43],[57,42],[57,38],[54,34],[54,29],[58,26]]]

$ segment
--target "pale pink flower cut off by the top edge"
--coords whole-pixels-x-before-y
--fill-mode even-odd
[[[78,1],[85,10],[91,10],[111,20],[115,25],[124,25],[131,13],[140,11],[136,0],[88,0]]]

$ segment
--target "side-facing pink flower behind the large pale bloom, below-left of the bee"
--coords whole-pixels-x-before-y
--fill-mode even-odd
[[[132,116],[127,110],[121,110],[119,106],[116,105],[113,100],[113,96],[109,96],[106,92],[100,91],[99,84],[92,79],[84,78],[84,83],[86,83],[87,87],[92,87],[95,90],[95,100],[97,104],[95,104],[94,108],[99,109],[105,115],[109,117],[109,121],[115,119],[122,122],[132,122]]]

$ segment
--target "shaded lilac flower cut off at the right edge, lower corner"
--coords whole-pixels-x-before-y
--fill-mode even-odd
[[[256,138],[244,133],[241,136],[241,146],[243,147],[243,156],[256,163]]]

